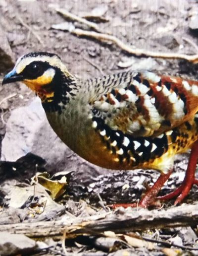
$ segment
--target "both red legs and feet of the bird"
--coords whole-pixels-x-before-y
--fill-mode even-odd
[[[143,207],[147,208],[150,205],[156,205],[157,200],[169,200],[173,197],[177,197],[175,200],[175,205],[180,203],[190,192],[192,186],[195,184],[198,186],[198,180],[195,179],[195,171],[196,171],[196,165],[198,162],[198,140],[194,142],[192,149],[191,149],[191,155],[189,158],[189,164],[186,171],[186,175],[184,178],[184,181],[182,182],[182,185],[176,189],[174,192],[171,192],[164,196],[156,197],[158,192],[163,187],[164,183],[168,180],[169,176],[172,173],[172,170],[169,171],[167,174],[161,174],[158,178],[158,180],[155,182],[155,184],[151,187],[151,189],[146,193],[146,195],[141,199],[139,203],[120,203],[120,204],[113,204],[111,205],[112,208],[117,207]]]

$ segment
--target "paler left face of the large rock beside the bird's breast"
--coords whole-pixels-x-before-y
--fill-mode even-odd
[[[45,122],[45,113],[38,99],[28,107],[20,107],[11,112],[2,140],[1,160],[16,161],[32,149],[35,132]]]

